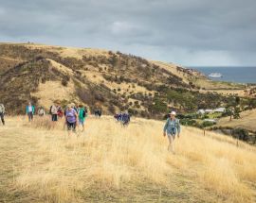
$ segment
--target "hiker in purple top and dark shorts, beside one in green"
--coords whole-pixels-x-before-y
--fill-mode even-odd
[[[67,126],[68,135],[70,135],[71,129],[76,132],[78,114],[77,111],[69,104],[65,110],[65,122]]]

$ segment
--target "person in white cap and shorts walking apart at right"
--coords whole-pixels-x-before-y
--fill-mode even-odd
[[[169,113],[169,118],[166,121],[166,124],[163,129],[163,136],[165,137],[167,134],[168,140],[169,140],[169,145],[168,145],[168,151],[172,151],[173,154],[174,152],[174,139],[175,135],[177,134],[177,137],[179,138],[180,134],[180,125],[179,125],[179,120],[175,118],[176,112],[171,111]]]

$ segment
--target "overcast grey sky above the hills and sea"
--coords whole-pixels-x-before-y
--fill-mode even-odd
[[[28,41],[256,66],[256,1],[0,0],[0,42]]]

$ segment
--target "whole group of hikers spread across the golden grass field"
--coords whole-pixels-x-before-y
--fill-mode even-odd
[[[3,125],[5,125],[5,113],[5,107],[0,103],[0,118]],[[43,107],[40,107],[38,108],[37,113],[40,117],[42,117],[46,115],[46,110]],[[99,108],[94,110],[94,114],[97,117],[101,117],[101,113],[102,111]],[[29,102],[26,107],[26,114],[28,116],[28,121],[31,122],[35,114],[35,107],[31,104],[31,102]],[[82,131],[84,130],[84,122],[85,118],[88,116],[88,110],[83,105],[76,106],[74,103],[68,104],[64,110],[60,105],[55,103],[49,108],[49,114],[51,114],[52,122],[56,122],[59,118],[62,119],[64,117],[64,126],[67,127],[68,135],[70,135],[71,130],[74,132],[76,131],[77,125],[81,125]],[[176,136],[179,138],[181,128],[179,120],[175,117],[175,115],[175,111],[170,111],[170,113],[168,113],[167,121],[163,127],[163,136],[167,136],[169,141],[168,151],[173,152],[173,154],[175,153],[174,139]],[[115,114],[114,118],[123,126],[128,126],[130,123],[130,115],[128,111],[117,113]]]

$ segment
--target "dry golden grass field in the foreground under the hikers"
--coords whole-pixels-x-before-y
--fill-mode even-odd
[[[167,151],[163,122],[89,117],[67,136],[63,122],[23,117],[0,127],[3,202],[254,202],[256,151],[183,127]]]

